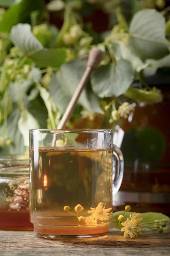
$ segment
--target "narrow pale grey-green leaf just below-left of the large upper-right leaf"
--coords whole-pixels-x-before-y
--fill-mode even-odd
[[[112,44],[112,47],[115,52],[116,61],[120,59],[129,61],[132,64],[133,70],[140,72],[148,66],[148,63],[144,63],[124,42],[117,41]]]

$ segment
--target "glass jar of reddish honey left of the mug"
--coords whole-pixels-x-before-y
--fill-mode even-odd
[[[29,221],[29,159],[0,158],[0,230],[32,230]]]

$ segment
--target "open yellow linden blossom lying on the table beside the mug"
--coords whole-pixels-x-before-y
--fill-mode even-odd
[[[136,219],[129,219],[127,218],[127,220],[125,222],[122,222],[122,229],[121,231],[124,232],[124,237],[127,238],[128,236],[130,236],[131,238],[135,238],[138,236],[139,234],[139,230],[141,229],[141,227],[138,225],[139,224],[139,220]]]

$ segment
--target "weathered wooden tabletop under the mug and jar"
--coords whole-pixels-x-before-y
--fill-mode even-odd
[[[46,240],[33,232],[0,231],[0,256],[170,256],[170,234],[147,231],[125,239],[112,229],[102,239]]]

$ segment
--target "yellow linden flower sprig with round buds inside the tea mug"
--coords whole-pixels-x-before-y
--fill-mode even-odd
[[[63,209],[64,211],[70,213],[71,215],[76,216],[78,218],[78,221],[85,222],[87,226],[96,225],[98,220],[100,221],[100,223],[101,221],[103,223],[103,221],[109,220],[109,218],[111,218],[112,215],[112,208],[106,209],[106,204],[102,202],[100,202],[98,206],[95,208],[91,207],[88,211],[88,213],[90,213],[91,215],[87,217],[79,216],[79,212],[82,212],[84,210],[84,207],[82,207],[81,204],[77,204],[77,206],[74,207],[74,210],[75,212],[77,212],[77,215],[70,211],[71,208],[68,205],[65,206]]]

